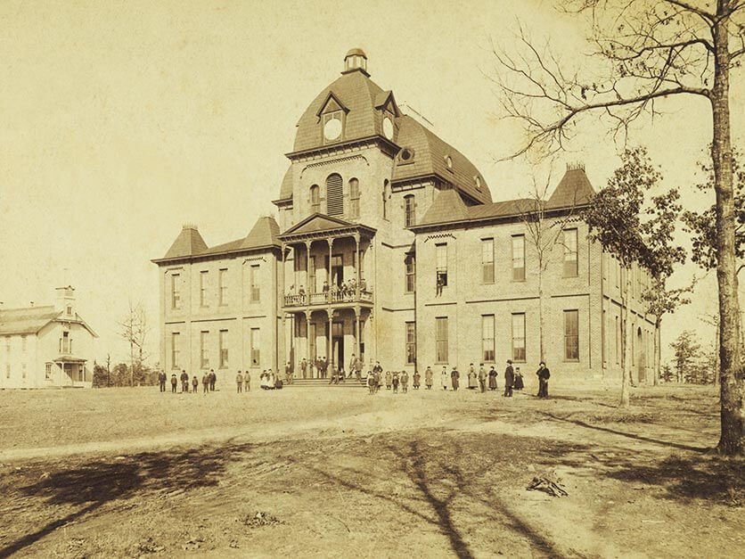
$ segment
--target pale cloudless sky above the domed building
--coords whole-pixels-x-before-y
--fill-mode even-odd
[[[381,2],[0,3],[0,301],[52,304],[72,284],[78,312],[100,338],[94,358],[125,360],[118,322],[142,302],[158,354],[158,268],[184,223],[208,245],[272,215],[295,125],[361,47],[368,70],[480,169],[493,198],[528,193],[525,160],[498,162],[520,140],[500,119],[491,45],[511,45],[517,22],[568,64],[585,64],[585,27],[544,0]],[[743,145],[743,78],[733,76],[733,138]],[[666,186],[700,209],[696,162],[711,119],[705,103],[675,101],[632,130]],[[584,162],[595,188],[622,146],[585,121],[559,164]],[[561,178],[561,172],[555,181]],[[713,196],[713,194],[709,194]],[[681,237],[683,239],[683,237]],[[673,278],[685,284],[689,264]],[[716,311],[713,273],[692,305],[668,318],[714,339],[699,316]]]

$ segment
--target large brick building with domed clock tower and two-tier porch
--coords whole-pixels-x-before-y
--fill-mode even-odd
[[[618,373],[620,272],[572,218],[594,193],[581,167],[541,202],[546,223],[564,231],[539,298],[526,201],[493,202],[471,161],[370,79],[363,51],[349,51],[340,78],[301,115],[287,158],[277,220],[212,248],[184,226],[153,260],[168,370],[256,374],[317,357],[348,368],[353,354],[365,368],[512,358],[532,369],[543,308],[553,371]],[[643,281],[634,271],[640,379],[655,335],[638,303]]]

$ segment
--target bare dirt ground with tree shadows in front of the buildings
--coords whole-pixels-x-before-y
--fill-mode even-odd
[[[219,388],[219,387],[218,387]],[[0,557],[729,557],[713,388],[0,392]],[[528,491],[536,476],[566,497]]]

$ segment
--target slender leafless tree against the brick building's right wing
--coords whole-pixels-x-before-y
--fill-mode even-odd
[[[564,227],[577,218],[577,193],[574,201],[568,207],[550,209],[546,205],[548,200],[548,189],[551,185],[551,174],[548,175],[543,185],[539,184],[533,177],[533,188],[529,197],[516,202],[520,219],[527,231],[526,240],[533,251],[536,252],[538,263],[538,348],[540,360],[545,360],[544,355],[544,273],[548,268],[557,246],[564,246]],[[577,247],[574,247],[575,251]]]

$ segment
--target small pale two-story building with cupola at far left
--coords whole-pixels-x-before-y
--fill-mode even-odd
[[[98,335],[76,312],[75,290],[55,291],[55,305],[0,309],[0,388],[91,387]]]

